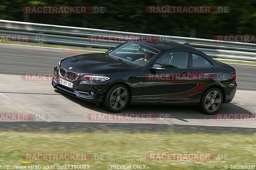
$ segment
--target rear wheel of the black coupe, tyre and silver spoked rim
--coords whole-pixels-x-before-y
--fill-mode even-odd
[[[220,89],[211,88],[201,98],[199,107],[207,115],[213,115],[219,111],[223,102],[223,95]]]

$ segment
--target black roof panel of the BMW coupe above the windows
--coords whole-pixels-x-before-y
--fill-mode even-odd
[[[132,41],[135,41],[140,44],[147,45],[149,47],[158,49],[159,51],[164,51],[164,50],[173,49],[173,48],[196,50],[195,48],[189,47],[187,45],[184,45],[184,44],[181,44],[178,42],[174,42],[174,41],[168,41],[168,40],[144,38],[144,39],[136,39],[136,40],[132,40]],[[198,50],[196,50],[196,51],[198,51]]]

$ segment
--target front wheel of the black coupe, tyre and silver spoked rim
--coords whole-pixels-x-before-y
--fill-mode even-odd
[[[129,91],[125,85],[119,84],[110,87],[103,99],[103,106],[111,112],[120,112],[129,101]]]

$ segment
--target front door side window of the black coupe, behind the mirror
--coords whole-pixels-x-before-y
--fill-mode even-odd
[[[163,64],[165,69],[186,69],[188,67],[188,52],[166,53],[156,63]]]

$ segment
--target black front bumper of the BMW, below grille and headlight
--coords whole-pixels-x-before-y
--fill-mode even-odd
[[[62,79],[67,80],[66,78]],[[106,92],[108,86],[111,84],[111,79],[101,83],[87,82],[84,80],[81,81],[79,79],[75,81],[67,81],[73,83],[73,88],[60,84],[60,76],[57,67],[55,67],[52,78],[53,88],[58,89],[61,92],[64,92],[71,96],[77,97],[81,100],[93,103],[101,103],[101,101],[103,100],[104,93]],[[91,92],[93,92],[93,94]]]

